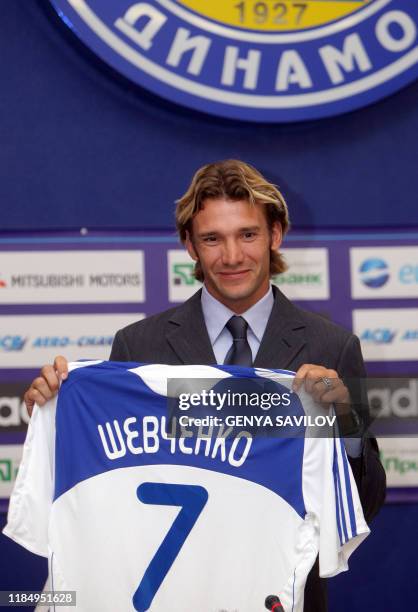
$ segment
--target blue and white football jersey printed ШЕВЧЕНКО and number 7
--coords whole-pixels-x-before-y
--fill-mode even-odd
[[[77,610],[261,612],[277,595],[302,612],[318,554],[322,577],[348,569],[369,529],[341,439],[224,424],[178,435],[170,413],[172,380],[207,380],[221,396],[248,379],[288,398],[282,416],[324,414],[292,392],[294,373],[70,369],[57,400],[35,407],[4,533],[49,558],[50,587],[75,590]]]

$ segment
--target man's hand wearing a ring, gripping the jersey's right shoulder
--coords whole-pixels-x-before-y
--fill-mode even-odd
[[[350,393],[335,370],[305,363],[295,374],[293,390],[298,391],[304,384],[305,391],[323,405],[339,404],[350,410]]]

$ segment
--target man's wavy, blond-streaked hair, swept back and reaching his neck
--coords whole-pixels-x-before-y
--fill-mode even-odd
[[[277,187],[269,183],[253,166],[236,159],[227,159],[200,168],[186,193],[177,200],[176,227],[183,243],[187,233],[192,237],[193,218],[208,198],[245,200],[253,206],[263,204],[270,231],[274,223],[280,223],[283,236],[289,228],[287,205]],[[271,251],[270,276],[286,269],[283,256],[277,251]],[[199,262],[196,262],[194,275],[197,280],[203,281]]]

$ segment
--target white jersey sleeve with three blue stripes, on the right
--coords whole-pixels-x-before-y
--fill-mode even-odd
[[[341,438],[305,440],[303,493],[315,523],[319,575],[348,570],[348,559],[370,530]]]

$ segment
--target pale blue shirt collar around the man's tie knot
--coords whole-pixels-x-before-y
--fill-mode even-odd
[[[226,323],[236,313],[227,308],[222,302],[217,300],[209,293],[205,285],[202,288],[202,310],[205,319],[206,328],[208,330],[209,339],[213,345],[219,334],[222,332]],[[264,332],[267,327],[271,309],[274,304],[273,290],[270,285],[269,291],[251,308],[242,313],[242,316],[247,321],[251,331],[261,342]]]

